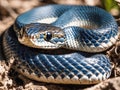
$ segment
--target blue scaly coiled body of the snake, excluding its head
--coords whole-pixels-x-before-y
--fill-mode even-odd
[[[40,11],[40,9],[42,11]],[[94,13],[89,13],[90,10],[98,13],[99,16],[102,15],[101,18],[98,18],[97,16],[93,17]],[[86,50],[88,50],[88,52],[90,52],[90,50],[91,52],[97,52],[97,50],[98,52],[103,51],[101,48],[96,48],[96,50],[94,50],[95,47],[98,46],[98,42],[104,42],[101,45],[105,47],[104,50],[106,50],[115,43],[118,37],[117,24],[113,17],[101,9],[100,11],[97,10],[99,10],[99,8],[90,6],[48,5],[20,15],[15,22],[16,30],[20,30],[19,28],[23,27],[25,24],[34,22],[44,23],[44,21],[47,20],[51,21],[49,23],[52,23],[52,25],[60,27],[64,32],[67,32],[67,49],[47,50],[22,45],[17,39],[17,34],[15,33],[17,31],[15,30],[14,32],[13,30],[15,27],[11,26],[5,32],[3,37],[3,50],[6,59],[9,60],[10,58],[14,58],[15,62],[13,68],[26,77],[37,81],[61,84],[95,84],[106,80],[111,75],[109,58],[101,53],[92,54],[82,52],[85,51],[84,48],[87,48]],[[67,15],[64,14],[66,13],[65,11],[68,11]],[[48,14],[51,12],[54,13]],[[78,14],[76,14],[76,12]],[[63,15],[61,16],[61,14]],[[63,16],[65,18],[62,18]],[[46,17],[47,20],[43,20],[43,17]],[[48,17],[50,18],[48,19]],[[59,18],[55,21],[55,19],[53,19],[54,17]],[[67,19],[67,17],[74,18]],[[93,20],[93,18],[98,21],[101,19],[101,22],[91,22],[90,20]],[[80,20],[81,23],[72,22],[77,19]],[[85,19],[87,21],[85,21]],[[104,20],[102,21],[102,19]],[[70,21],[70,23],[68,21]],[[77,26],[73,26],[73,24]],[[95,30],[88,30],[81,29],[78,25],[84,28],[91,28],[91,26],[96,28],[99,25],[101,27],[96,28]],[[34,33],[35,31],[31,32]],[[80,38],[85,41],[81,41]],[[101,41],[99,39],[97,40],[97,38],[101,38]],[[78,39],[79,41],[84,42],[83,45],[78,43],[78,45],[80,45],[79,47],[82,47],[83,49],[81,51],[73,51],[77,47],[76,42],[73,40]],[[97,42],[95,40],[97,40]],[[91,44],[93,47],[89,49],[88,46],[91,47]],[[88,46],[84,47],[85,45]],[[72,48],[73,50],[68,50],[69,48]],[[76,50],[80,49],[77,48]]]

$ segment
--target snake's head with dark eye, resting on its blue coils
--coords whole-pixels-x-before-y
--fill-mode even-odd
[[[64,46],[65,34],[62,29],[48,24],[27,24],[20,30],[20,43],[34,48],[55,49]]]

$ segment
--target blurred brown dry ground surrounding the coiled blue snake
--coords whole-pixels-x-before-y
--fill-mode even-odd
[[[89,0],[90,1],[90,0]],[[94,1],[94,2],[92,2]],[[0,90],[120,90],[120,42],[119,39],[113,47],[105,52],[111,60],[113,67],[110,79],[96,85],[60,85],[36,82],[17,73],[12,67],[11,59],[6,63],[2,51],[2,33],[9,28],[15,18],[27,10],[46,4],[77,4],[97,5],[101,7],[100,0],[0,0]],[[119,0],[118,0],[119,1]],[[116,17],[115,17],[116,18]],[[116,21],[120,25],[119,16]],[[119,28],[120,29],[120,28]]]

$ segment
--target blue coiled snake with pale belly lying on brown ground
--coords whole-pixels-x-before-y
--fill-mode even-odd
[[[96,84],[111,75],[103,54],[118,38],[114,17],[95,6],[45,5],[19,15],[3,35],[7,60],[35,81]]]

